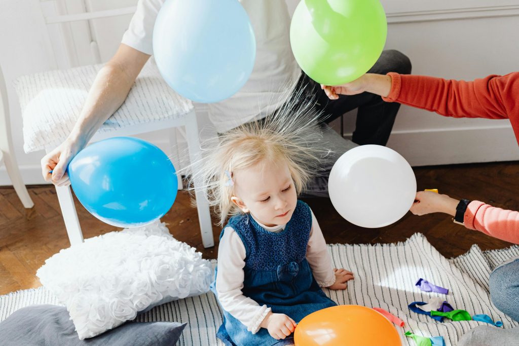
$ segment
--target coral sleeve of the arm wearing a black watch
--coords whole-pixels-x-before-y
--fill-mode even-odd
[[[490,237],[519,244],[519,212],[472,201],[467,206],[463,224]]]

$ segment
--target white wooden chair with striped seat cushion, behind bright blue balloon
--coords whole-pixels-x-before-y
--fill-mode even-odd
[[[63,8],[63,0],[56,0],[56,3],[58,10]],[[65,13],[53,16],[48,16],[48,13],[46,15],[45,10],[43,13],[46,23],[50,27],[52,24],[66,25],[76,21],[128,15],[134,9],[134,7],[127,7],[116,10],[73,15]],[[67,28],[64,27],[64,29]],[[52,30],[49,30],[50,32]],[[64,32],[66,41],[67,37],[70,39],[70,35],[66,35],[66,30]],[[92,42],[90,47],[95,61],[100,62],[100,55],[95,43]],[[90,88],[93,77],[100,68],[100,64],[65,68],[17,79],[15,86],[22,106],[24,149],[26,152],[45,149],[48,153],[65,139],[72,129],[80,108],[83,106],[86,92]],[[113,136],[127,136],[170,129],[169,139],[172,148],[170,154],[175,164],[179,162],[175,130],[179,127],[185,127],[190,161],[197,162],[200,155],[200,143],[193,104],[166,85],[166,82],[158,73],[153,59],[151,59],[144,66],[125,103],[103,124],[93,136],[92,141]],[[179,166],[175,164],[175,167]],[[197,168],[193,167],[193,169],[196,170]],[[179,189],[182,189],[180,175],[178,179]],[[57,187],[56,191],[71,245],[83,242],[83,233],[79,225],[70,187]],[[196,200],[203,246],[214,246],[207,198],[203,193],[197,193]]]

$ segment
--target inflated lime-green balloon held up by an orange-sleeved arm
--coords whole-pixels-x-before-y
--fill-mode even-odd
[[[301,69],[324,85],[340,85],[370,70],[387,36],[378,0],[302,0],[290,24],[290,44]]]

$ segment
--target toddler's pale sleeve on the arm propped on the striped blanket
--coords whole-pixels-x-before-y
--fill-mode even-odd
[[[335,283],[335,273],[332,267],[332,258],[326,248],[321,227],[312,212],[312,228],[310,239],[306,247],[306,259],[312,269],[313,277],[321,287],[328,287]]]

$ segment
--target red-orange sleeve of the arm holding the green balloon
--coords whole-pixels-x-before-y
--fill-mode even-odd
[[[519,72],[474,81],[446,80],[390,72],[387,102],[430,110],[449,117],[507,119],[519,113]]]

